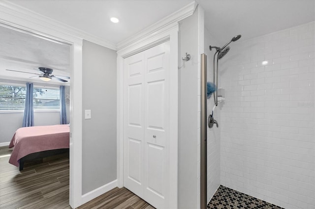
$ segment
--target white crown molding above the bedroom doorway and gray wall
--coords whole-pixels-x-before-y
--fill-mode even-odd
[[[74,42],[77,43],[81,42],[82,44],[82,39],[84,39],[103,47],[115,51],[117,50],[114,43],[35,13],[32,10],[14,4],[8,0],[0,1],[0,23],[19,28],[23,26],[22,29],[31,30],[36,34],[39,34],[37,31],[44,31],[45,34],[42,35],[45,36],[58,37],[56,34],[63,34],[63,37],[67,37],[69,38],[68,40],[74,40]]]

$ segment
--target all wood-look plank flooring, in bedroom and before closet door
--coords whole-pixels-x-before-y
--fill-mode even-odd
[[[0,147],[1,209],[71,209],[69,158],[25,163],[24,170],[8,163],[12,150]],[[114,188],[78,209],[154,209],[126,188]]]

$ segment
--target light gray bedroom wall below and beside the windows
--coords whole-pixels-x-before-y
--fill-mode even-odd
[[[14,83],[12,83],[14,85]],[[69,94],[69,86],[65,87]],[[69,122],[69,104],[66,104],[67,122]],[[15,131],[22,127],[23,112],[0,113],[0,143],[10,142]],[[60,124],[60,112],[34,112],[34,126]]]

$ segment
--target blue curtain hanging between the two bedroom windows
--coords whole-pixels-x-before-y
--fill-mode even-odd
[[[33,83],[26,83],[23,127],[34,126]]]

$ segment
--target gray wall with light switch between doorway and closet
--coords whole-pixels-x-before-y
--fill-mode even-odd
[[[117,179],[115,51],[83,41],[82,194]]]

